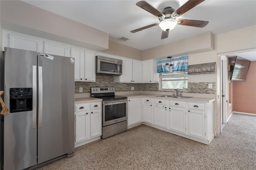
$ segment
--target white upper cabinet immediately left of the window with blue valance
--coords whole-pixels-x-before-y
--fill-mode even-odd
[[[149,59],[142,61],[142,77],[143,83],[155,83],[155,77],[157,73],[157,61],[154,59]]]

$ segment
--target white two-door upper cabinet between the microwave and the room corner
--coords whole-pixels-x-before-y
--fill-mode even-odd
[[[122,75],[114,76],[115,83],[141,83],[142,61],[121,57]]]

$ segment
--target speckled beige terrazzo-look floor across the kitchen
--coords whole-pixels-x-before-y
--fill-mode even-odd
[[[36,170],[256,170],[256,116],[233,114],[210,145],[140,125]]]

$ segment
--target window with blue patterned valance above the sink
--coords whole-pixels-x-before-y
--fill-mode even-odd
[[[166,63],[172,63],[173,70],[171,73],[165,68]],[[173,90],[179,88],[185,90],[188,88],[188,55],[173,58],[169,61],[158,61],[158,73],[160,90]]]

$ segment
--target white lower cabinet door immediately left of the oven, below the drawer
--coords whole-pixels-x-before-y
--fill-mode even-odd
[[[90,137],[101,135],[101,109],[90,111]]]

